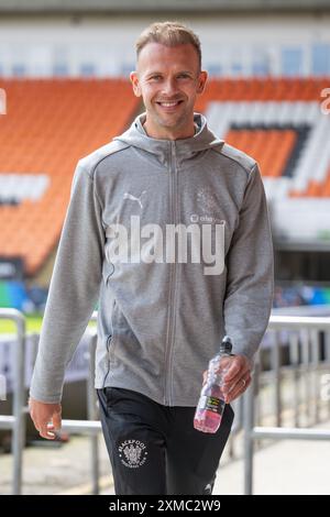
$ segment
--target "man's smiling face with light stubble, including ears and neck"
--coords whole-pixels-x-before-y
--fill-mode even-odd
[[[135,96],[143,98],[148,136],[177,140],[194,135],[194,106],[205,89],[207,73],[200,72],[190,43],[172,47],[147,43],[130,79]]]

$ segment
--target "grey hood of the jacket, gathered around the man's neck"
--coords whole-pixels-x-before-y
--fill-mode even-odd
[[[180,140],[158,140],[148,136],[143,128],[146,113],[141,113],[135,118],[131,127],[121,135],[113,140],[125,142],[129,145],[146,151],[156,155],[162,164],[167,164],[172,150],[175,144],[176,158],[178,162],[195,157],[201,151],[223,145],[224,141],[218,139],[207,125],[207,120],[201,113],[194,113],[196,133],[194,136]]]

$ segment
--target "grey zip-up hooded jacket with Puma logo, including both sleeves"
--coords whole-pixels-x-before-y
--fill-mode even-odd
[[[224,333],[251,360],[273,299],[273,246],[257,164],[195,113],[196,134],[147,136],[145,113],[78,162],[30,394],[62,398],[98,305],[96,387],[196,406]]]

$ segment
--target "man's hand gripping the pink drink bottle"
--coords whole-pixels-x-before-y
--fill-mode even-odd
[[[222,358],[220,362],[219,372],[227,370],[223,376],[223,395],[226,404],[242,395],[251,383],[251,361],[245,355],[231,355],[230,358]],[[207,382],[208,371],[202,374],[204,383]]]

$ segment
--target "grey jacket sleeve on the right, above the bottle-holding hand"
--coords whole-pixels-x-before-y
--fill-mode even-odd
[[[274,293],[271,224],[257,164],[250,172],[226,260],[226,333],[232,338],[233,353],[253,361],[268,324]]]

